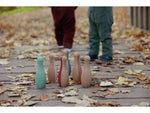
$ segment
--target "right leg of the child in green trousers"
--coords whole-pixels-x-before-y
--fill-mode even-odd
[[[113,47],[112,47],[112,37],[111,37],[111,24],[101,23],[99,25],[99,35],[102,42],[102,55],[112,57]]]

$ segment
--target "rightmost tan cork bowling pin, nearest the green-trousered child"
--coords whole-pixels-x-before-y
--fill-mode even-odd
[[[90,71],[90,57],[84,57],[84,69],[81,74],[81,85],[83,87],[89,87],[91,84],[91,71]]]

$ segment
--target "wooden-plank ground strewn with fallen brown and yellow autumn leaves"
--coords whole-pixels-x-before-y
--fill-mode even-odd
[[[44,57],[47,72],[49,53],[55,54],[59,71],[61,51],[56,49],[50,8],[0,16],[0,106],[150,106],[150,35],[130,26],[129,7],[114,7],[112,65],[90,63],[89,88],[58,83],[35,86],[36,59]],[[87,7],[76,10],[76,33],[70,55],[88,53]],[[101,52],[99,56],[101,55]],[[81,60],[83,69],[84,62]]]

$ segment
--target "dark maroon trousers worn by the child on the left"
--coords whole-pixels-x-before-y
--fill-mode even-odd
[[[75,7],[52,7],[57,44],[72,48],[75,34]]]

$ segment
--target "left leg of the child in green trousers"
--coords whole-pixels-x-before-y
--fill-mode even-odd
[[[89,24],[90,24],[89,26],[89,45],[90,45],[89,54],[98,56],[99,43],[100,43],[100,37],[98,35],[98,28],[89,10],[88,10],[88,16],[89,16]]]

